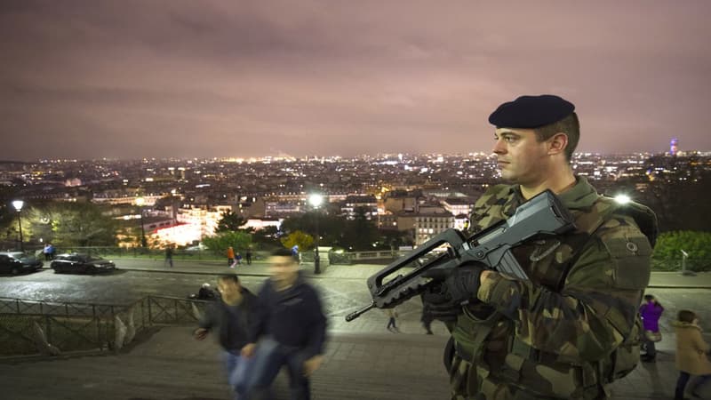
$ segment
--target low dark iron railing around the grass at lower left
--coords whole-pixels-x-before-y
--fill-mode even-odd
[[[118,350],[153,326],[194,324],[209,303],[152,295],[125,305],[0,298],[0,356]]]

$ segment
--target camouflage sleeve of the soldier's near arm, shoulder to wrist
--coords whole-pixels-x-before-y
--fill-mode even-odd
[[[510,316],[518,339],[532,348],[595,361],[634,332],[650,257],[646,236],[619,217],[587,241],[561,292],[494,273],[477,297]]]

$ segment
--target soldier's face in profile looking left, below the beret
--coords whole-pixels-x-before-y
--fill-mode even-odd
[[[521,185],[538,185],[545,180],[547,141],[539,142],[532,129],[499,128],[494,133],[501,177]]]

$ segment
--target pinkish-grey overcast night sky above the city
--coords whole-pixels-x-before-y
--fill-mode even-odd
[[[521,94],[579,150],[711,150],[711,2],[0,0],[0,159],[491,151]]]

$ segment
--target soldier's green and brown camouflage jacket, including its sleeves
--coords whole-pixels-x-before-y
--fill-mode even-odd
[[[519,398],[516,390],[601,398],[607,383],[635,367],[651,244],[618,204],[577,180],[559,198],[578,228],[516,247],[531,281],[491,273],[477,292],[481,302],[451,326],[452,398]],[[509,218],[524,201],[517,186],[490,188],[475,204],[472,231]]]

